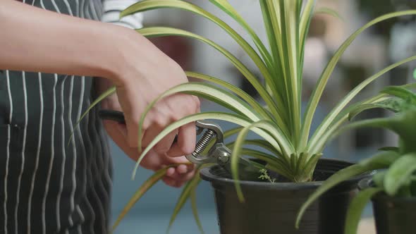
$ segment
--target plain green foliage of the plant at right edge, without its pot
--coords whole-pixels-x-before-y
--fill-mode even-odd
[[[416,87],[416,84],[407,86]],[[376,104],[363,105],[361,109],[351,112],[350,118],[361,111],[372,108],[389,109],[396,113],[395,116],[357,121],[346,125],[341,130],[368,127],[385,128],[398,135],[398,147],[384,147],[381,149],[381,153],[338,171],[326,180],[302,207],[302,211],[304,211],[319,195],[348,178],[360,175],[365,171],[386,169],[373,176],[374,187],[360,191],[351,202],[345,222],[345,234],[357,232],[365,205],[377,193],[385,192],[391,197],[416,197],[416,94],[405,87],[387,87],[381,93],[391,97]]]

